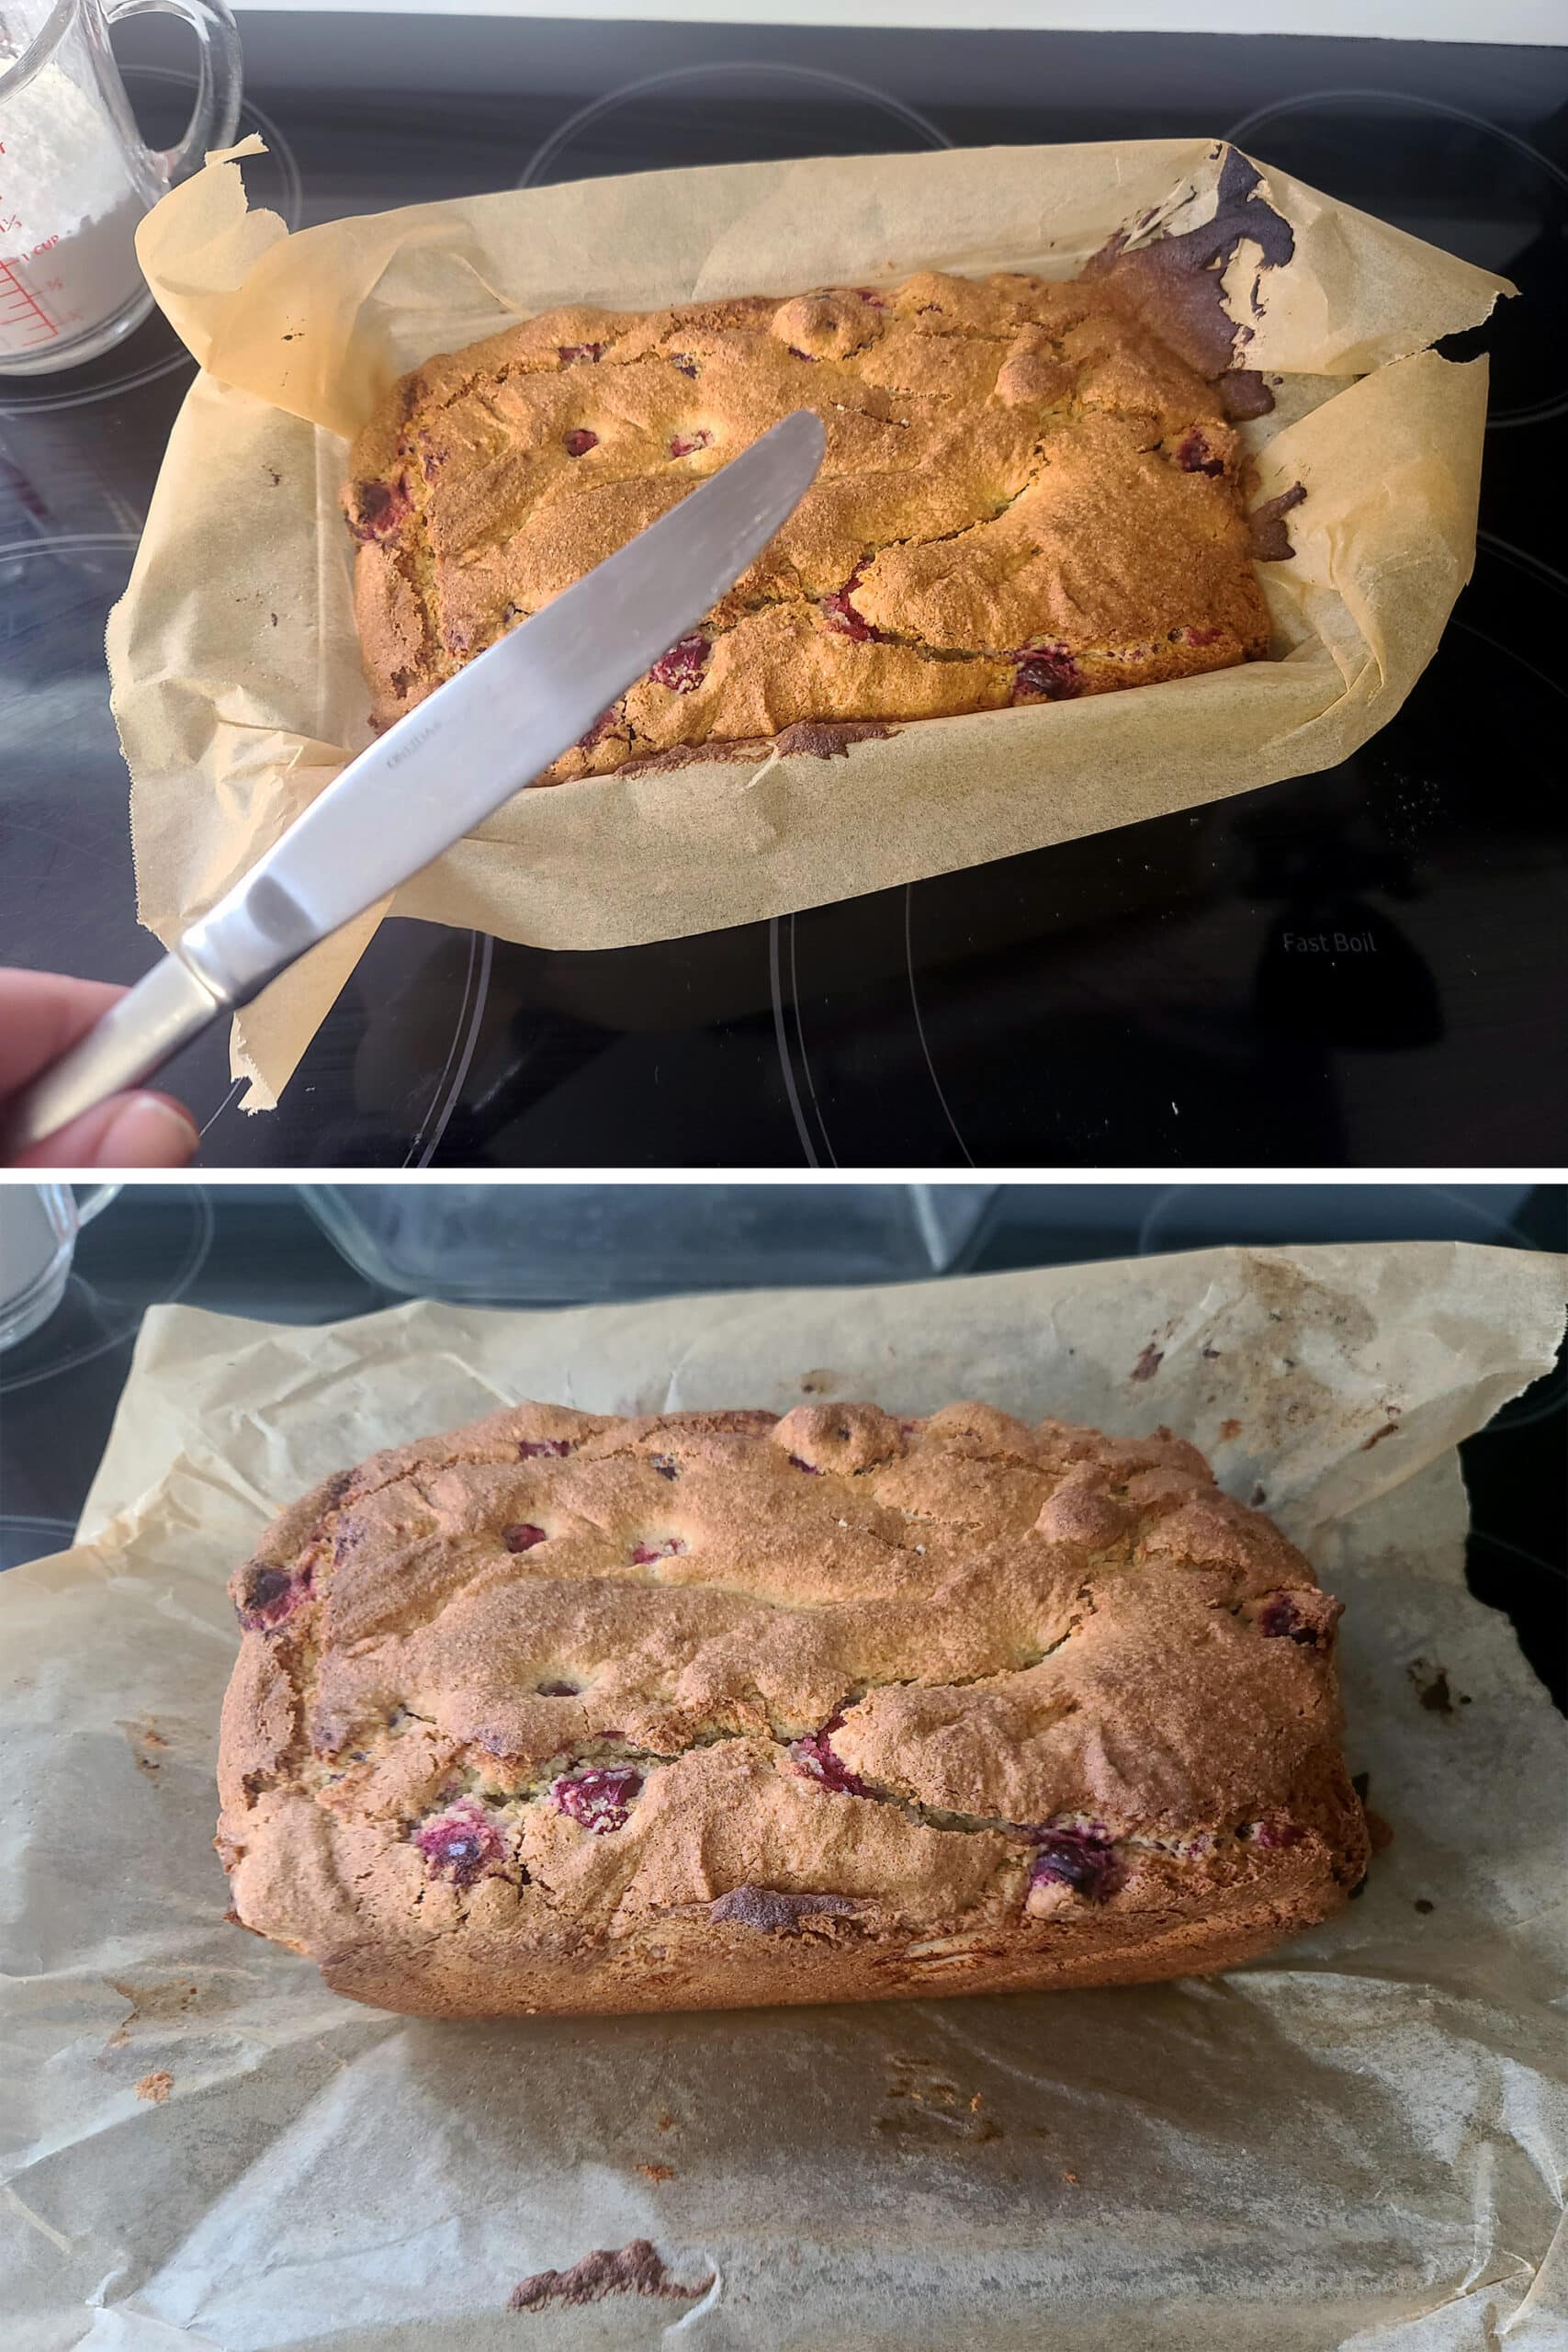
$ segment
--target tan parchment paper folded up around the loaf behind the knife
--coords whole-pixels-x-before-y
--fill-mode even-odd
[[[209,162],[136,240],[202,362],[108,630],[141,920],[174,941],[369,739],[336,494],[346,435],[407,367],[564,301],[914,268],[1070,278],[1140,214],[1178,233],[1208,219],[1222,155],[1164,139],[651,172],[299,235],[247,212],[237,162]],[[1427,346],[1512,287],[1281,172],[1262,193],[1295,256],[1260,270],[1246,240],[1222,287],[1244,362],[1284,379],[1279,414],[1248,428],[1258,496],[1307,489],[1295,557],[1262,567],[1274,661],[931,720],[835,760],[520,793],[397,913],[541,948],[677,938],[1222,800],[1363,743],[1474,557],[1486,365]],[[277,1098],[383,910],[244,1014],[247,1108]]]

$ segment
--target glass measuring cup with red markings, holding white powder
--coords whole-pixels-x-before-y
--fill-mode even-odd
[[[153,153],[108,47],[122,16],[183,16],[197,38],[190,127]],[[136,223],[240,120],[228,0],[0,0],[0,374],[94,360],[153,296]]]

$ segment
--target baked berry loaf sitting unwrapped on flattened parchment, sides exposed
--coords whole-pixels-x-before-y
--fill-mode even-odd
[[[233,1917],[383,2009],[1178,1976],[1366,1867],[1338,1602],[1164,1430],[522,1404],[230,1590]]]

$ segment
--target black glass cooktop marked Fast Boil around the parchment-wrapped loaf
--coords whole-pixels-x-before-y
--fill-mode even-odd
[[[1225,132],[1523,299],[1455,346],[1493,355],[1474,581],[1345,767],[668,946],[388,922],[275,1115],[237,1108],[223,1040],[181,1058],[207,1164],[1568,1160],[1568,52],[256,12],[244,40],[242,129],[270,148],[247,186],[292,226],[668,165]],[[169,143],[183,52],[141,19],[120,54]],[[0,379],[7,962],[155,957],[103,621],[190,376],[155,318],[80,374]]]

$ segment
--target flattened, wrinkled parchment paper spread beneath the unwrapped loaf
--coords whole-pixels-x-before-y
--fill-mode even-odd
[[[85,1541],[0,1578],[7,2352],[1561,2352],[1566,1726],[1465,1590],[1453,1446],[1547,1369],[1563,1282],[1434,1242],[327,1329],[153,1310]],[[1366,1896],[1128,1990],[498,2025],[336,1999],[221,1917],[223,1573],[315,1477],[524,1392],[1190,1432],[1347,1602],[1349,1762],[1394,1830]],[[701,2293],[505,2310],[635,2239]]]

